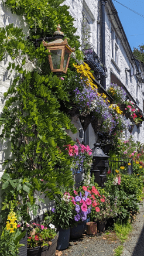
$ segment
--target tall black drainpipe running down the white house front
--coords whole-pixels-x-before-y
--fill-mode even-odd
[[[105,2],[101,0],[101,60],[105,64]],[[102,87],[106,88],[105,77],[102,80]]]

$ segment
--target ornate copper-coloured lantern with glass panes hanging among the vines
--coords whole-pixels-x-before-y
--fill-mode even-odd
[[[67,73],[68,63],[70,61],[70,54],[74,52],[74,48],[71,48],[67,39],[63,40],[64,33],[60,31],[60,25],[57,26],[57,31],[54,32],[53,36],[56,40],[46,43],[43,40],[43,46],[49,49],[49,62],[50,69],[52,72],[63,72]]]

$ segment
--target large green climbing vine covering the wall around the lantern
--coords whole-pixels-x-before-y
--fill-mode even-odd
[[[53,36],[60,23],[68,43],[78,51],[80,42],[74,36],[74,18],[63,1],[8,0],[13,13],[25,16],[30,38]],[[11,202],[18,211],[18,219],[30,220],[29,211],[37,214],[35,193],[53,199],[60,187],[73,186],[71,159],[64,145],[73,144],[67,134],[77,129],[70,118],[61,111],[68,104],[66,84],[50,72],[48,50],[40,43],[35,48],[25,39],[22,29],[13,24],[0,28],[0,61],[11,56],[8,70],[16,71],[11,87],[4,94],[6,103],[0,118],[1,137],[11,142],[12,158],[6,159],[2,176],[2,219],[5,220]],[[26,56],[27,55],[27,56]],[[20,62],[19,58],[22,60]],[[26,58],[36,63],[32,72],[25,70]],[[14,62],[18,60],[18,64]],[[8,165],[7,165],[8,164]],[[38,197],[39,199],[39,197]]]

